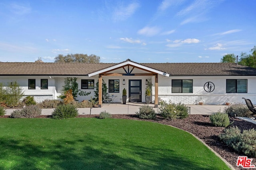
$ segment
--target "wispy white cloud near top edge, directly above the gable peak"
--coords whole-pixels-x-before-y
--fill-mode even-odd
[[[140,7],[140,4],[134,2],[128,6],[118,6],[114,9],[113,20],[122,21],[126,20],[134,14],[134,12]]]

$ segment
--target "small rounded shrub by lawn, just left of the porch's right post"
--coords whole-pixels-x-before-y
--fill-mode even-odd
[[[136,112],[136,115],[140,119],[152,119],[154,120],[156,118],[156,112],[154,109],[148,105],[143,105],[139,108],[139,111]]]

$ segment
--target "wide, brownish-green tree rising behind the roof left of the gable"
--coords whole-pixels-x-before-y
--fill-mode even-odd
[[[100,57],[94,54],[59,54],[54,59],[55,63],[100,63]]]

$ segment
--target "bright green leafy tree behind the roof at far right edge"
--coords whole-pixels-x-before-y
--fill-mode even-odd
[[[238,63],[240,65],[247,65],[249,67],[256,68],[256,46],[254,46],[250,52],[252,52],[252,54],[242,52]]]

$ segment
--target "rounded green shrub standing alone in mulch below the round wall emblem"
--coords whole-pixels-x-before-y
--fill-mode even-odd
[[[228,114],[220,112],[210,115],[210,121],[216,127],[227,127],[231,124]]]

